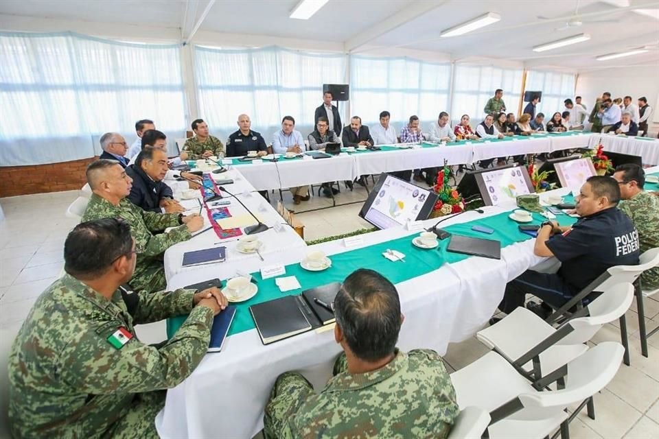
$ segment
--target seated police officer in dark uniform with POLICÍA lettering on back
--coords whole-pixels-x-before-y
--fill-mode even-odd
[[[608,268],[638,264],[638,233],[632,220],[617,208],[620,197],[620,187],[613,178],[588,178],[577,195],[579,221],[571,227],[544,222],[535,239],[533,252],[540,257],[556,257],[562,262],[560,270],[555,274],[523,272],[506,285],[498,308],[511,313],[524,306],[524,295],[530,293],[546,303],[542,309],[529,309],[546,318],[551,314],[546,304],[561,307]]]

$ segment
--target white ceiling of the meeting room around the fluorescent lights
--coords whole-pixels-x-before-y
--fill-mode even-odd
[[[3,0],[0,29],[10,15],[183,28],[189,34],[209,0]],[[200,31],[321,40],[368,54],[397,47],[448,54],[454,60],[501,58],[529,66],[588,69],[620,64],[659,66],[659,20],[625,8],[659,10],[659,0],[581,0],[583,25],[558,29],[575,12],[577,0],[329,0],[310,20],[288,18],[299,0],[218,0]],[[443,29],[496,12],[501,21],[476,32],[439,38]],[[187,14],[187,24],[184,17]],[[593,15],[594,14],[594,15]],[[546,19],[539,19],[544,16]],[[598,21],[608,21],[598,23]],[[32,30],[32,29],[30,29]],[[61,30],[76,30],[61,29]],[[586,43],[533,52],[535,45],[588,33]],[[194,43],[194,39],[193,39]],[[218,38],[218,46],[222,45]],[[264,44],[266,45],[266,44]],[[597,62],[595,56],[654,45],[647,54]],[[354,47],[357,46],[357,47]],[[319,47],[321,49],[322,47]],[[400,52],[400,51],[399,51]]]

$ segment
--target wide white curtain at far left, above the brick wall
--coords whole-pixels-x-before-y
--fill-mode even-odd
[[[185,130],[177,45],[0,32],[0,60],[0,166],[91,157],[104,132],[132,143],[139,119],[170,143]]]

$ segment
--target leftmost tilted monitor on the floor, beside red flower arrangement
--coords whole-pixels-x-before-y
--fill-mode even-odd
[[[383,229],[403,226],[408,221],[428,219],[437,202],[437,193],[382,174],[371,190],[359,216]]]

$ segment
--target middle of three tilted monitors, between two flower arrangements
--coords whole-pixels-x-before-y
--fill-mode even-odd
[[[527,170],[514,164],[467,171],[457,190],[463,198],[480,194],[487,206],[514,201],[517,195],[534,192]]]

